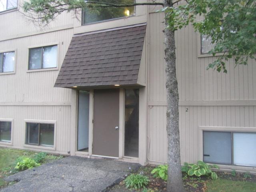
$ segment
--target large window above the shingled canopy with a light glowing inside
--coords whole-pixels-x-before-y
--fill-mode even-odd
[[[95,1],[106,2],[106,0],[95,0]],[[108,0],[107,2],[112,4],[116,4],[116,2],[118,2],[118,4],[133,4],[135,0],[120,0],[120,1]],[[86,8],[84,9],[82,14],[82,24],[85,25],[85,24],[100,22],[104,20],[127,17],[127,16],[134,15],[134,13],[135,13],[135,6]]]

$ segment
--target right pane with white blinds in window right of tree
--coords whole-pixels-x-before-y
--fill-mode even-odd
[[[233,133],[234,164],[256,166],[256,133]]]

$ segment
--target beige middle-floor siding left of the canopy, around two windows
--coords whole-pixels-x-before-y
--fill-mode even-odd
[[[68,29],[0,41],[0,52],[16,51],[15,73],[0,73],[0,102],[70,101],[71,90],[54,88],[54,83],[72,35],[73,29]],[[57,69],[28,70],[28,49],[49,44],[58,45]]]

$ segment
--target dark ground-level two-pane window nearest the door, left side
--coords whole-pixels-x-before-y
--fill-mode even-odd
[[[26,122],[26,144],[54,147],[55,124]]]

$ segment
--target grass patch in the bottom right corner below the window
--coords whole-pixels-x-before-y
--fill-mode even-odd
[[[210,180],[207,192],[256,192],[256,183],[225,179]]]

